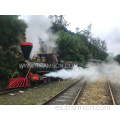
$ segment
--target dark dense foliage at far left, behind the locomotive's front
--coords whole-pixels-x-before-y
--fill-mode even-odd
[[[0,16],[0,80],[8,79],[18,62],[18,46],[25,39],[26,23],[17,15]]]

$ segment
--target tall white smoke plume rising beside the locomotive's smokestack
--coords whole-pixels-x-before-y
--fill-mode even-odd
[[[30,58],[40,52],[41,47],[44,49],[53,49],[56,47],[55,40],[57,35],[51,31],[52,21],[45,15],[31,15],[22,16],[27,22],[28,28],[26,29],[26,42],[33,43],[33,49]],[[44,43],[40,45],[41,43]]]

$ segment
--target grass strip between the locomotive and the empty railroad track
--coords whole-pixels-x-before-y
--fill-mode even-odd
[[[74,80],[64,80],[60,83],[51,82],[40,84],[37,87],[28,88],[24,93],[15,92],[13,96],[4,94],[0,96],[0,105],[40,105],[51,96],[57,94],[60,90],[67,87]]]

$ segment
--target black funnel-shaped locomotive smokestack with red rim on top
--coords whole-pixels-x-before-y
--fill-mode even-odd
[[[25,60],[29,60],[29,56],[30,56],[33,44],[30,42],[21,42],[20,46],[21,46],[21,50],[23,52]]]

